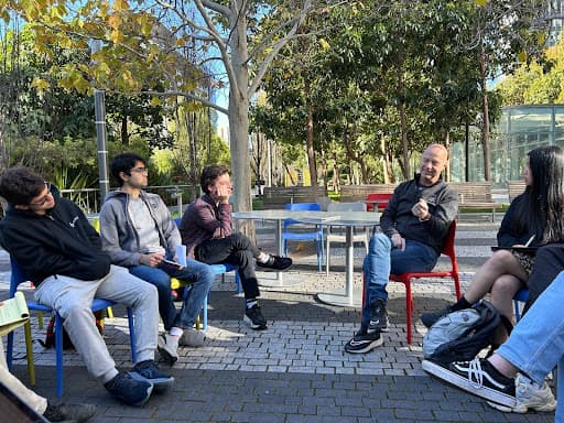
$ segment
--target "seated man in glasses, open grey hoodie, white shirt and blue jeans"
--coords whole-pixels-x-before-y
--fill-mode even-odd
[[[215,272],[208,264],[187,259],[175,264],[181,235],[166,205],[156,194],[143,191],[148,185],[145,161],[134,153],[113,158],[111,174],[120,189],[110,192],[100,210],[102,248],[112,263],[153,285],[159,292],[159,312],[165,333],[158,349],[170,365],[178,359],[178,346],[204,345],[205,335],[194,323],[212,289]],[[171,278],[192,288],[178,312],[174,305]]]

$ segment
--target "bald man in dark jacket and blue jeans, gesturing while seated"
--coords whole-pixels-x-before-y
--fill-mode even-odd
[[[458,212],[458,195],[443,182],[441,173],[448,152],[441,144],[429,145],[420,161],[420,173],[400,184],[380,218],[364,262],[366,276],[362,321],[345,351],[362,354],[382,345],[388,332],[386,286],[390,273],[432,270],[451,223]]]

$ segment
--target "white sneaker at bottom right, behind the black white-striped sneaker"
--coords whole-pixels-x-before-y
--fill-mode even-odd
[[[529,409],[543,412],[553,412],[556,400],[546,382],[541,387],[527,376],[518,373],[516,378],[516,406],[509,408],[488,401],[488,404],[506,413],[527,413]]]

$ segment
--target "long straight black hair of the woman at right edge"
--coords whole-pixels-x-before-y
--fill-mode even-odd
[[[528,154],[533,183],[517,214],[518,230],[534,234],[542,243],[564,240],[564,151],[557,145],[540,147]]]

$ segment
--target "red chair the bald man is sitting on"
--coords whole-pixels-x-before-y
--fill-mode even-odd
[[[460,282],[458,280],[458,262],[454,251],[454,238],[456,235],[456,220],[453,220],[446,235],[445,245],[441,253],[451,259],[451,270],[431,271],[431,272],[406,272],[401,274],[390,274],[390,281],[401,282],[405,285],[405,324],[408,326],[408,344],[411,344],[413,335],[413,295],[411,293],[411,281],[421,278],[452,278],[454,280],[454,288],[456,290],[456,299],[460,300]],[[366,283],[366,280],[365,280]],[[366,289],[362,290],[362,305],[365,304]]]

